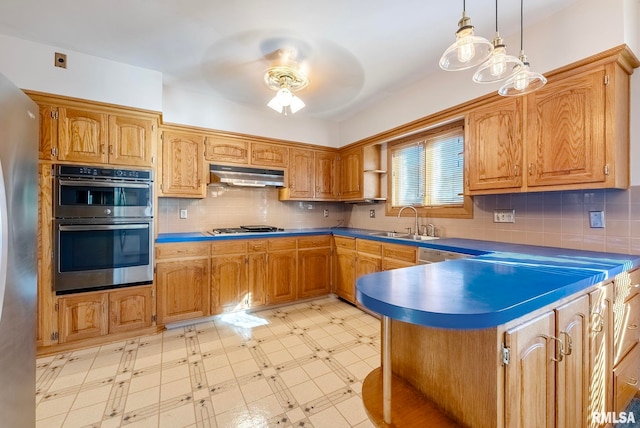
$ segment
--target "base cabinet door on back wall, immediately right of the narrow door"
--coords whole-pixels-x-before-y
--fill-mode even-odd
[[[269,303],[289,302],[296,298],[297,251],[274,251],[268,255],[267,287]]]

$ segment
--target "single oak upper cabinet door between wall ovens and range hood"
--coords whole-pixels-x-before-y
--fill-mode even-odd
[[[204,137],[164,132],[162,138],[162,196],[203,198]]]

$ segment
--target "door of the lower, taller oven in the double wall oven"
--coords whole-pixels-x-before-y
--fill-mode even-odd
[[[153,220],[55,220],[57,294],[153,281]]]

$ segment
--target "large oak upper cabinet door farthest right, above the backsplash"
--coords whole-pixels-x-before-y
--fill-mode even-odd
[[[528,96],[529,186],[605,180],[604,77],[599,67]]]

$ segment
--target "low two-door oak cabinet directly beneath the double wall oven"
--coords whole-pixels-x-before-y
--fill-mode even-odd
[[[151,327],[153,286],[60,297],[58,325],[58,343]]]

